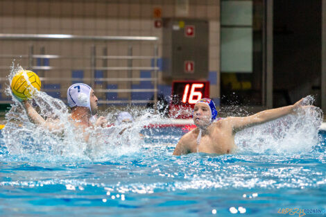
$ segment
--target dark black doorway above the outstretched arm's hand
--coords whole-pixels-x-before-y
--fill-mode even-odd
[[[273,107],[307,95],[320,106],[321,0],[273,3]]]

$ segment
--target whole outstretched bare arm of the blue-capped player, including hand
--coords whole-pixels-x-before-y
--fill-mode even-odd
[[[291,114],[293,112],[296,112],[296,110],[298,110],[299,107],[302,107],[302,101],[303,98],[293,105],[278,107],[273,110],[265,110],[262,112],[258,112],[257,114],[253,114],[251,116],[246,116],[246,117],[231,116],[224,119],[224,121],[226,124],[232,127],[233,132],[235,133],[239,130],[242,130],[243,128],[248,128],[252,125],[273,121],[282,116],[285,116],[286,114]]]

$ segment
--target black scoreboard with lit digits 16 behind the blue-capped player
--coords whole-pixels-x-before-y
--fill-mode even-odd
[[[173,81],[170,116],[176,119],[191,118],[194,105],[200,98],[209,98],[209,81]]]

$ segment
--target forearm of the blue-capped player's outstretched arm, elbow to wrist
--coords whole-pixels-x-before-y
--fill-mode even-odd
[[[266,121],[273,121],[274,119],[278,119],[282,116],[285,116],[286,114],[290,114],[291,112],[293,112],[293,110],[293,105],[278,107],[273,110],[258,112],[253,116],[253,118],[256,119],[258,123],[264,123]]]

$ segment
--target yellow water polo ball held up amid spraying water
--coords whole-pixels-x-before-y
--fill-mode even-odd
[[[26,80],[28,78],[28,81]],[[33,96],[35,89],[40,91],[41,80],[33,71],[18,71],[11,80],[11,91],[17,98],[26,100]]]

